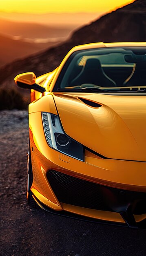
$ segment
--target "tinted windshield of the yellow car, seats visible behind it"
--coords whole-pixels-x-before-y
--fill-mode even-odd
[[[109,47],[74,52],[53,91],[145,91],[146,47]]]

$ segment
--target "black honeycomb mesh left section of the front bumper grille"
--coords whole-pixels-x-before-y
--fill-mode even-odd
[[[90,209],[110,210],[104,204],[100,185],[54,170],[47,172],[47,178],[60,202]]]

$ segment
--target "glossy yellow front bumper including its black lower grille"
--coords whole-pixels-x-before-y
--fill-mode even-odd
[[[42,208],[57,211],[58,214],[64,212],[67,215],[78,214],[82,218],[92,218],[94,221],[109,221],[122,225],[126,222],[130,227],[135,228],[146,221],[145,162],[101,159],[88,152],[85,162],[81,162],[49,147],[40,112],[29,114],[29,127],[33,168],[31,191]],[[82,188],[82,196],[78,197],[80,200],[77,203],[73,202],[79,195],[78,185],[74,188],[77,190],[74,195],[70,194],[72,186],[71,189],[68,186],[66,191],[60,192],[60,189],[56,191],[49,177],[51,170],[66,175],[64,177],[67,184],[69,184],[67,177],[71,177],[80,180],[81,183],[88,182],[96,186],[94,193],[91,186],[92,196],[88,198],[89,190],[86,189],[88,193],[84,193],[85,185]],[[53,182],[55,184],[56,181]],[[79,184],[79,188],[80,186],[82,184]],[[67,196],[62,198],[61,193]],[[82,204],[83,195],[84,204]]]

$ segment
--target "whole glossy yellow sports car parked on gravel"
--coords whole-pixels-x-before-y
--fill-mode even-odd
[[[15,83],[31,89],[29,205],[146,228],[146,43],[76,46]]]

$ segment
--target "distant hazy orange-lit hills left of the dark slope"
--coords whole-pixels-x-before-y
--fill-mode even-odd
[[[72,27],[51,27],[0,18],[0,66],[38,53],[69,36]]]

